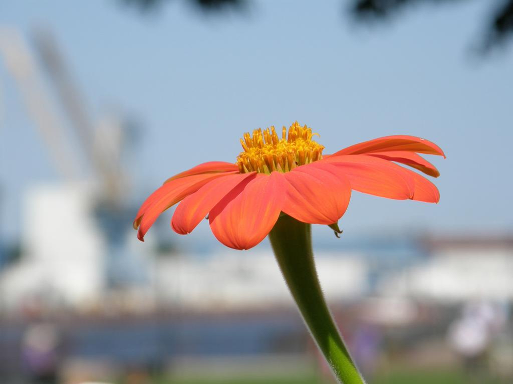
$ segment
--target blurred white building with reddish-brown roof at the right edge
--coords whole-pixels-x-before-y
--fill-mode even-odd
[[[441,303],[513,301],[513,237],[434,237],[419,246],[429,258],[383,281],[383,294]]]

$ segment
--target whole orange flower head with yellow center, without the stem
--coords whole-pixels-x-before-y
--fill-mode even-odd
[[[190,233],[208,215],[214,236],[224,245],[249,249],[260,243],[281,212],[311,224],[337,228],[351,189],[380,197],[437,203],[437,187],[396,163],[438,177],[437,168],[418,154],[444,156],[436,144],[413,136],[386,136],[351,145],[332,155],[312,140],[311,129],[294,122],[254,130],[241,139],[236,163],[212,161],[168,179],[143,203],[134,220],[144,236],[156,218],[176,207],[171,227]]]

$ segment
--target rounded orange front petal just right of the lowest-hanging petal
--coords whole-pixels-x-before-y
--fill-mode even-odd
[[[282,210],[311,224],[333,224],[344,215],[351,185],[339,167],[323,162],[302,165],[284,174],[287,181]]]

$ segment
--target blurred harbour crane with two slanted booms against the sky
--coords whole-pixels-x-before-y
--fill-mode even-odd
[[[126,121],[117,116],[100,119],[90,118],[86,103],[73,81],[64,55],[48,30],[36,29],[32,34],[39,60],[35,60],[25,39],[16,30],[0,30],[0,54],[6,68],[21,91],[27,111],[49,148],[50,155],[64,180],[79,180],[79,162],[73,146],[66,145],[64,122],[50,102],[49,92],[43,86],[40,62],[53,86],[56,101],[69,125],[74,129],[78,143],[97,181],[97,194],[92,212],[104,233],[108,254],[106,278],[108,286],[123,286],[141,280],[144,268],[136,266],[135,259],[125,247],[126,232],[134,214],[127,203],[128,182],[122,167],[122,146]]]

